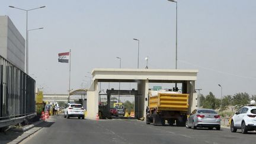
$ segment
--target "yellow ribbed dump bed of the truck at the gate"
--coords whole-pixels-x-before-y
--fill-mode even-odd
[[[172,91],[150,91],[149,108],[157,111],[188,111],[189,94],[178,94]]]

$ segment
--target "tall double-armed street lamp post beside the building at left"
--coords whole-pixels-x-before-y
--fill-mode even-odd
[[[22,8],[17,8],[17,7],[13,7],[13,6],[9,6],[10,8],[16,8],[16,9],[20,9],[26,12],[27,15],[27,20],[26,20],[26,47],[25,47],[25,73],[28,74],[28,11],[32,11],[34,9],[39,9],[39,8],[45,8],[46,6],[42,6],[42,7],[38,7],[38,8],[32,8],[32,9],[22,9]]]

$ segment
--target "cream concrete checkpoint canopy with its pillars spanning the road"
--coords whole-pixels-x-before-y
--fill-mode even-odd
[[[197,97],[194,86],[197,80],[196,69],[115,69],[95,68],[92,70],[92,84],[87,91],[87,119],[96,119],[98,113],[99,91],[98,82],[137,82],[137,91],[140,95],[135,110],[137,118],[145,117],[145,110],[148,106],[149,83],[173,83],[183,82],[187,92]],[[192,107],[197,105],[193,102]],[[136,107],[136,106],[135,106]]]

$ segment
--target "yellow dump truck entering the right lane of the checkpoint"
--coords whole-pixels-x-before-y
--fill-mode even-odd
[[[149,91],[149,106],[146,109],[146,124],[185,126],[189,109],[189,94],[173,91]]]

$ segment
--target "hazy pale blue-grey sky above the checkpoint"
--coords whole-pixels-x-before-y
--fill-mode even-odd
[[[175,3],[167,0],[1,0],[0,15],[8,15],[25,37],[25,12],[31,9],[29,73],[46,92],[66,93],[68,63],[57,53],[72,50],[71,87],[88,83],[93,68],[175,68]],[[256,94],[256,1],[178,1],[178,68],[199,69],[196,88],[220,97],[236,92]],[[84,84],[88,85],[88,84]],[[112,87],[112,86],[111,86]],[[113,87],[118,88],[117,85]],[[122,88],[122,87],[121,87]],[[123,87],[124,88],[124,87]]]

